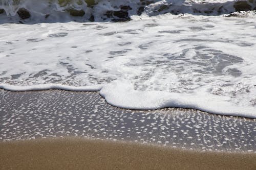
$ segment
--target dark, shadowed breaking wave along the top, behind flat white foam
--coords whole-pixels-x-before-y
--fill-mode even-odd
[[[129,21],[134,15],[155,16],[165,13],[222,15],[255,9],[255,0],[197,2],[185,0],[0,0],[1,20],[23,23]]]

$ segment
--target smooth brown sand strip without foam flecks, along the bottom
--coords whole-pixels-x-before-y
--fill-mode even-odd
[[[0,142],[1,169],[256,169],[256,154],[81,138]]]

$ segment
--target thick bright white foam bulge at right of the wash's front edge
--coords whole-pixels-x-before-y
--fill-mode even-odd
[[[256,118],[254,108],[230,104],[228,98],[202,91],[192,94],[163,91],[137,91],[127,81],[113,81],[100,90],[109,104],[126,109],[159,109],[165,107],[192,108],[223,115]]]

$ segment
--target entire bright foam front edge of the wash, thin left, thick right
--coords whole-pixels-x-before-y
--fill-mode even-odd
[[[166,107],[189,108],[213,114],[256,118],[254,108],[234,106],[227,99],[216,95],[180,94],[164,91],[137,91],[131,88],[128,81],[116,80],[108,85],[101,86],[68,86],[61,84],[39,84],[32,86],[15,86],[0,84],[0,89],[9,91],[30,91],[60,89],[69,91],[99,91],[107,103],[124,108],[152,110]],[[200,96],[200,97],[199,97]]]

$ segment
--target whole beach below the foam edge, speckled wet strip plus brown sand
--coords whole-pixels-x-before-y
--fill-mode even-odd
[[[1,169],[255,169],[254,119],[0,90]],[[28,140],[30,139],[30,140]]]

